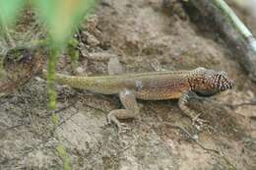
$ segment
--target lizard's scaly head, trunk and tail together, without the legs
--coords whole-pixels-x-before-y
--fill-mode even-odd
[[[201,95],[211,95],[233,87],[233,82],[224,72],[204,68],[103,77],[57,74],[56,82],[102,94],[115,94],[128,88],[136,93],[136,98],[145,100],[177,99],[189,90]]]

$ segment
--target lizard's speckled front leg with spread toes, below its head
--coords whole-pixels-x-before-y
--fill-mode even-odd
[[[196,111],[190,109],[186,104],[188,103],[189,99],[191,98],[191,96],[196,96],[196,97],[200,97],[198,96],[195,92],[189,90],[187,92],[185,92],[178,100],[178,105],[179,108],[183,111],[183,113],[188,116],[189,118],[191,118],[193,125],[195,123],[199,123],[199,124],[203,124],[204,122],[207,122],[205,120],[202,120],[199,118],[199,116],[202,113],[197,113]]]

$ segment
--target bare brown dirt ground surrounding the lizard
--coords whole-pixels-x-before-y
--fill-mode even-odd
[[[236,11],[256,32],[251,16]],[[26,13],[14,35],[34,31],[33,18]],[[139,119],[125,121],[130,129],[118,133],[106,125],[107,113],[121,107],[116,96],[65,85],[57,86],[58,108],[65,109],[57,112],[56,125],[47,110],[46,82],[36,77],[0,98],[0,169],[62,169],[67,164],[87,170],[256,169],[256,105],[249,104],[255,101],[256,85],[220,33],[200,22],[174,0],[165,8],[160,0],[102,0],[78,33],[75,73],[107,75],[107,61],[90,57],[106,55],[116,56],[126,73],[197,67],[226,71],[234,89],[190,102],[210,122],[206,127],[193,127],[176,100],[139,101]],[[70,63],[63,54],[58,72],[74,74]]]

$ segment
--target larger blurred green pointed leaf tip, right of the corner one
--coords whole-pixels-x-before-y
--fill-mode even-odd
[[[61,45],[85,14],[92,10],[95,0],[36,0],[33,4],[48,26],[53,41]]]

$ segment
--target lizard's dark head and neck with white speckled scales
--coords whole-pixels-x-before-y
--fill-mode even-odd
[[[227,77],[225,72],[202,67],[193,71],[189,83],[191,90],[199,95],[213,95],[234,86],[233,81]]]

